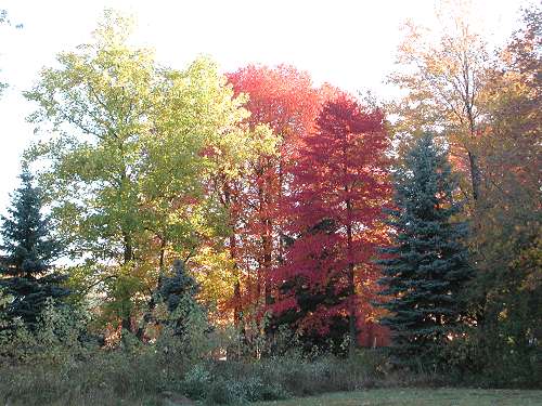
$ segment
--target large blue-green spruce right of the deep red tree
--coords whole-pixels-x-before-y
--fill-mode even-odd
[[[447,152],[425,134],[395,173],[395,206],[388,224],[395,245],[382,250],[385,275],[382,319],[392,332],[391,354],[399,366],[431,365],[439,348],[464,315],[462,290],[472,277],[462,239],[466,224],[454,222],[456,181]]]

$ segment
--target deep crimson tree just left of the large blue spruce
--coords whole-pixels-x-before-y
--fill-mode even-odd
[[[388,146],[382,112],[363,110],[348,95],[324,105],[292,169],[291,241],[271,278],[279,289],[272,309],[297,313],[294,327],[301,331],[325,335],[348,315],[350,350],[358,325],[371,317],[376,274],[370,259],[386,239]]]

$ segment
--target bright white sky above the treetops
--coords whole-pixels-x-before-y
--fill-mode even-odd
[[[529,0],[473,0],[476,23],[498,47],[517,28]],[[248,63],[293,64],[317,83],[390,97],[401,25],[435,25],[437,0],[0,0],[11,27],[0,27],[0,213],[17,185],[23,152],[37,136],[25,118],[36,108],[29,90],[61,51],[88,42],[104,9],[138,22],[134,41],[156,50],[157,61],[182,68],[199,54],[223,71]],[[16,29],[15,24],[23,28]]]

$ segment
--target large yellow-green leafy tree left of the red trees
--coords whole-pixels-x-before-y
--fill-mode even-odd
[[[28,155],[50,163],[40,182],[53,215],[73,256],[89,259],[74,275],[81,291],[107,296],[126,329],[173,258],[224,234],[212,152],[235,143],[247,117],[215,63],[160,68],[128,44],[131,27],[106,11],[93,40],[61,53],[25,93],[38,104],[30,120],[55,130]]]

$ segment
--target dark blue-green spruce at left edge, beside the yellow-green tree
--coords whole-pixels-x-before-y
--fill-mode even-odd
[[[41,214],[40,191],[26,166],[20,178],[9,215],[0,218],[0,249],[7,253],[0,258],[0,287],[14,298],[5,311],[8,318],[21,317],[33,328],[47,299],[61,299],[69,291],[61,286],[64,276],[52,270],[61,246],[50,235],[50,219]]]

